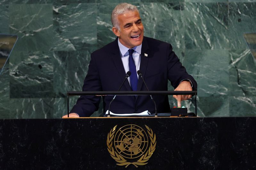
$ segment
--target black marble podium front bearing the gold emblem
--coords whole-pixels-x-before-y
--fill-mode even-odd
[[[114,147],[115,137],[108,138],[111,129],[116,126],[117,134],[124,126],[141,127],[136,130],[138,140],[148,135],[145,125],[156,135],[155,147],[150,146],[150,135],[144,147],[147,153],[154,149],[149,159],[141,159],[147,164],[116,165],[120,163],[108,151],[110,142],[118,155],[122,152]],[[8,119],[0,120],[0,129],[1,170],[256,168],[256,117]],[[125,131],[119,132],[122,138]],[[124,142],[124,137],[121,143],[129,145],[129,151],[139,149],[135,138]]]

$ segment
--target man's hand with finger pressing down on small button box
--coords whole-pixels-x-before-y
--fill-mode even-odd
[[[182,81],[174,91],[192,91],[192,87],[189,81]],[[181,101],[188,100],[192,96],[186,94],[186,95],[173,95],[173,97],[178,101],[178,107],[181,107]]]

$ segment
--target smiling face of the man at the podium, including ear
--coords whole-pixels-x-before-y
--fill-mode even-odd
[[[119,41],[128,48],[139,46],[143,40],[144,27],[138,11],[127,11],[118,15],[120,30],[115,27],[112,31],[119,37]]]

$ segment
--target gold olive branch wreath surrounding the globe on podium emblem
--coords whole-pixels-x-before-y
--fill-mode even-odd
[[[148,134],[150,137],[150,147],[148,148],[148,151],[142,155],[140,157],[139,160],[137,160],[136,162],[128,162],[126,159],[124,159],[124,157],[122,157],[121,155],[119,155],[113,147],[113,138],[115,135],[115,131],[116,131],[116,127],[117,125],[110,130],[110,132],[108,133],[108,137],[107,137],[107,146],[108,146],[108,152],[110,153],[110,156],[116,161],[118,162],[116,165],[119,166],[124,166],[125,167],[129,166],[129,165],[134,165],[135,167],[138,167],[138,165],[146,165],[148,162],[148,159],[152,156],[153,152],[156,150],[156,134],[153,133],[153,130],[150,129],[147,125],[145,125],[145,127],[148,129]]]

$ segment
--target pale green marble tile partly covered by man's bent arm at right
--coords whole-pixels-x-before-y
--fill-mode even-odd
[[[197,81],[198,96],[228,95],[228,56],[221,49],[185,51],[183,64]]]

